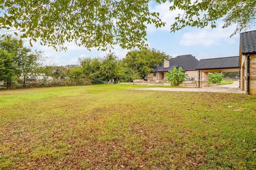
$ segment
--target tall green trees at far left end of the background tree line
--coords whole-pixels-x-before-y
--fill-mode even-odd
[[[28,74],[40,65],[42,52],[23,47],[21,40],[6,36],[0,40],[0,84],[6,88],[26,87]]]

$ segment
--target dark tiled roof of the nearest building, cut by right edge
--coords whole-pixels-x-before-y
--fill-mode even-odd
[[[240,33],[242,54],[256,53],[256,30]]]

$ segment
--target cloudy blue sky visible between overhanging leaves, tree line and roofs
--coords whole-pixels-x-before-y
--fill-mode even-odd
[[[203,58],[236,56],[239,54],[239,35],[230,38],[235,26],[222,29],[222,21],[217,22],[217,28],[185,28],[175,33],[170,33],[170,25],[174,22],[174,17],[181,11],[169,11],[170,4],[151,4],[151,10],[160,12],[161,19],[166,22],[166,27],[156,29],[148,25],[148,44],[150,48],[156,48],[170,56],[192,54],[198,60]],[[107,52],[95,49],[91,51],[84,47],[77,47],[74,43],[67,44],[66,52],[56,52],[52,47],[45,47],[34,44],[33,49],[44,52],[46,64],[67,65],[77,64],[79,57],[104,56]],[[111,52],[119,58],[123,58],[127,53],[126,49],[115,46]]]

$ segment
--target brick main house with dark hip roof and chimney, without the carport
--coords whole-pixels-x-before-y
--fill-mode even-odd
[[[197,86],[198,81],[198,70],[196,67],[199,61],[191,54],[180,55],[175,58],[170,58],[164,61],[164,64],[156,66],[154,71],[150,72],[148,75],[148,81],[150,82],[164,82],[166,79],[165,74],[169,70],[173,70],[174,67],[179,69],[181,67],[183,72],[187,74],[187,80],[184,82],[187,86]]]

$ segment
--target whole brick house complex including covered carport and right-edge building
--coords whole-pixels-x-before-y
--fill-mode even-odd
[[[188,75],[182,86],[208,87],[208,74],[239,72],[239,88],[256,95],[256,30],[240,33],[239,56],[208,58],[198,61],[191,54],[180,55],[156,66],[148,75],[148,82],[166,82],[165,74],[174,67],[182,67]]]

